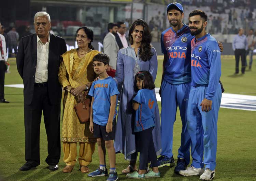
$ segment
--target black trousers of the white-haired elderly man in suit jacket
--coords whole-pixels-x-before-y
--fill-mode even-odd
[[[45,162],[53,165],[60,159],[60,104],[50,103],[47,86],[34,87],[32,103],[24,104],[25,160],[32,166],[40,165],[39,139],[42,111],[48,141],[48,156]]]

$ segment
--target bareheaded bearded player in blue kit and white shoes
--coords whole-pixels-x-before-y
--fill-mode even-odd
[[[206,25],[207,15],[203,11],[189,14],[191,35],[196,36],[191,41],[192,82],[187,110],[193,161],[179,172],[183,176],[201,175],[200,180],[212,180],[215,176],[217,119],[222,97],[221,51],[217,41],[206,32]]]

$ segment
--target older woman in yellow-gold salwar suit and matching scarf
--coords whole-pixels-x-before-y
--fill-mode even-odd
[[[64,173],[73,170],[76,163],[76,143],[79,142],[79,164],[83,173],[88,173],[87,167],[95,150],[96,139],[89,131],[89,122],[81,123],[75,113],[74,106],[83,99],[83,92],[88,89],[96,77],[93,70],[93,57],[99,52],[94,50],[93,31],[86,26],[76,31],[78,49],[72,49],[61,57],[63,61],[59,69],[59,82],[65,90],[63,98],[63,161],[66,167]]]

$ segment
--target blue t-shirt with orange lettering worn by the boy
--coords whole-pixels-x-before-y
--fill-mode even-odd
[[[119,94],[115,80],[108,76],[103,80],[97,80],[91,85],[89,95],[94,97],[93,122],[105,126],[109,119],[110,97]],[[117,107],[117,98],[116,98]],[[115,108],[114,117],[117,114]],[[113,117],[113,119],[114,119]]]

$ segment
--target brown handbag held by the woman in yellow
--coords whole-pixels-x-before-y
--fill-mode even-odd
[[[75,112],[78,119],[84,123],[90,121],[91,96],[88,96],[89,90],[84,91],[84,100],[75,105]]]

